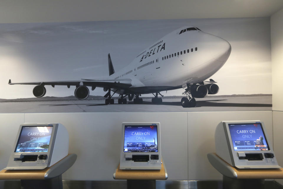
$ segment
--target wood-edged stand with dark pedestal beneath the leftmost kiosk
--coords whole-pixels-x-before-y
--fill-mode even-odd
[[[62,189],[62,173],[72,167],[76,159],[76,154],[68,154],[43,170],[1,170],[0,180],[21,180],[23,189]]]

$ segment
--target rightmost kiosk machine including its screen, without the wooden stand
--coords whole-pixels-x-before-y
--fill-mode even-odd
[[[281,168],[260,120],[222,121],[215,130],[215,148],[219,157],[239,169]]]

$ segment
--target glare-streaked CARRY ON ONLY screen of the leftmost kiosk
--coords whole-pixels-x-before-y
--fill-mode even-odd
[[[47,152],[53,126],[24,126],[15,152]]]

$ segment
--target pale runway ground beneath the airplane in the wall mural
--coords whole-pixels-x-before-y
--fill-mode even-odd
[[[200,111],[266,111],[272,110],[272,96],[207,97],[198,98],[196,107],[183,108],[181,98],[163,98],[162,104],[152,104],[143,98],[143,104],[105,105],[105,100],[0,102],[0,113],[58,113],[58,112],[200,112]]]

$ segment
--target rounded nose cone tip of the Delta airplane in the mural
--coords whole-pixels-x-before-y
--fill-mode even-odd
[[[212,54],[213,58],[217,61],[227,61],[231,53],[231,45],[228,41],[220,38],[215,44],[215,49]]]

